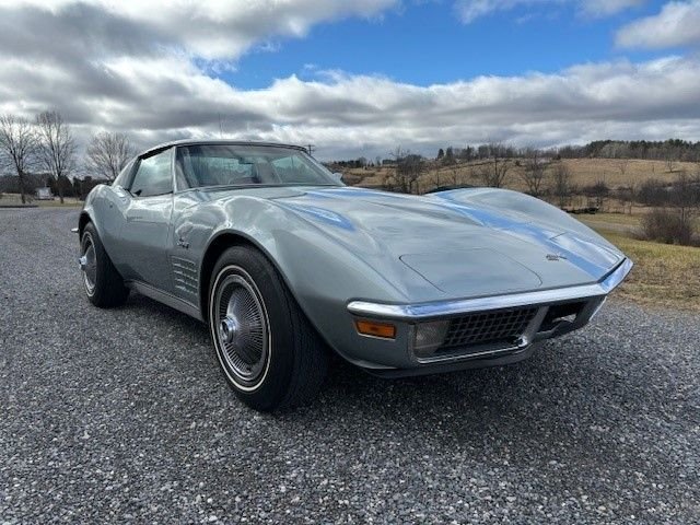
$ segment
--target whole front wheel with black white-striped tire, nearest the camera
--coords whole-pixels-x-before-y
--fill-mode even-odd
[[[327,350],[267,258],[247,246],[229,248],[210,282],[209,329],[238,398],[260,411],[314,398],[328,370]]]

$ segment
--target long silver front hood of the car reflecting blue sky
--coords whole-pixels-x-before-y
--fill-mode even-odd
[[[578,222],[571,229],[490,206],[360,188],[271,199],[386,272],[410,298],[470,298],[591,283],[623,258]],[[425,292],[428,283],[433,293]]]

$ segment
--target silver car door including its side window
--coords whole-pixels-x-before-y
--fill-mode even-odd
[[[172,292],[173,149],[140,158],[127,189],[120,234],[122,277]]]

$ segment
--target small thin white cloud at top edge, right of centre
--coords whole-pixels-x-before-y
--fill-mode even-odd
[[[563,5],[574,4],[586,16],[608,16],[629,8],[644,3],[645,0],[457,0],[455,9],[460,20],[471,23],[476,19],[487,16],[499,11],[510,11],[520,5]]]

